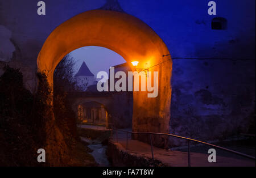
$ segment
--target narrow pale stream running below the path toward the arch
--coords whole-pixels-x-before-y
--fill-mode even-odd
[[[85,137],[80,138],[82,141],[89,143],[88,147],[93,150],[93,152],[90,152],[89,154],[93,156],[93,158],[101,167],[110,166],[108,156],[106,156],[106,149],[108,146],[103,146],[97,139],[92,140]]]

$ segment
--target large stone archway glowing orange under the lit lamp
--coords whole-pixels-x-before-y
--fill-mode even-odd
[[[38,71],[46,72],[49,83],[53,84],[57,64],[66,54],[82,46],[111,49],[130,65],[131,61],[139,61],[138,68],[156,65],[150,71],[159,71],[158,97],[147,98],[147,92],[134,92],[133,131],[168,133],[172,61],[166,61],[163,56],[170,54],[163,40],[147,24],[129,14],[86,11],[60,24],[48,36],[38,55]],[[147,141],[144,137],[138,139]],[[167,144],[163,137],[157,136],[153,140],[156,146]]]

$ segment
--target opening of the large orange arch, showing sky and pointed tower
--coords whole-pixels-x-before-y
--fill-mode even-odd
[[[110,67],[114,67],[114,74],[118,71],[123,71],[127,76],[128,71],[131,71],[122,56],[110,49],[99,46],[85,46],[65,56],[57,65],[53,77],[55,120],[62,122],[69,111],[74,113],[73,117],[77,118],[77,124],[85,124],[88,122],[88,119],[84,116],[86,115],[84,108],[89,106],[85,107],[83,102],[96,102],[104,106],[105,110],[111,113],[111,115],[108,115],[108,117],[111,116],[108,121],[111,120],[115,128],[131,129],[133,93],[127,92],[127,87],[126,91],[107,93],[108,95],[102,95],[102,92],[97,90],[97,82],[100,80],[97,78],[97,74],[102,71],[109,73]],[[108,79],[104,82],[108,83]],[[126,86],[128,86],[127,81]],[[65,102],[67,98],[69,101]],[[108,102],[105,100],[108,100]],[[61,105],[64,106],[61,107]],[[93,107],[88,112],[94,112],[94,110],[97,113],[100,112],[98,107]],[[100,115],[103,116],[102,113]],[[101,118],[100,115],[97,118]],[[72,116],[69,115],[69,117]],[[70,119],[72,120],[72,118]],[[94,122],[94,120],[89,122]]]

